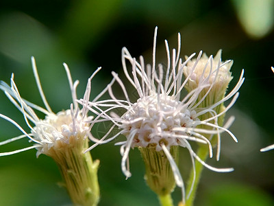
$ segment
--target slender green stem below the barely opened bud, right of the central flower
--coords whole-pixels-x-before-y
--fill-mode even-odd
[[[208,147],[207,146],[200,146],[198,151],[197,151],[197,155],[200,157],[200,159],[202,161],[206,161],[206,159],[208,157]],[[199,163],[199,161],[195,160],[196,178],[195,178],[195,183],[194,183],[192,192],[191,192],[188,200],[186,200],[186,206],[192,206],[193,205],[193,202],[195,200],[197,187],[198,187],[199,181],[201,179],[201,172],[202,171],[203,171],[203,165],[201,163]],[[194,171],[192,169],[191,173],[190,173],[190,177],[189,177],[188,187],[186,189],[186,194],[188,194],[190,192],[190,187],[191,187],[193,175],[194,175]]]

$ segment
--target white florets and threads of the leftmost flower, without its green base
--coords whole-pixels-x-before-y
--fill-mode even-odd
[[[88,110],[86,110],[86,108],[79,109],[78,107],[78,104],[76,102],[76,87],[77,84],[79,84],[79,81],[77,80],[73,83],[68,66],[64,63],[64,69],[66,70],[66,74],[69,79],[69,85],[71,88],[73,104],[71,104],[70,109],[66,111],[60,111],[56,114],[53,113],[53,111],[51,111],[51,108],[42,91],[34,57],[32,57],[32,67],[34,71],[34,76],[36,78],[36,83],[40,92],[40,96],[45,104],[46,109],[21,98],[21,95],[14,82],[13,74],[10,80],[10,86],[5,82],[1,82],[0,89],[5,92],[5,95],[7,95],[7,97],[16,106],[16,108],[18,108],[18,110],[21,111],[21,113],[23,113],[25,122],[27,126],[30,128],[31,132],[27,133],[13,119],[10,119],[5,115],[0,114],[1,118],[6,119],[12,124],[14,124],[14,126],[16,126],[23,133],[23,135],[21,136],[14,137],[6,141],[2,141],[0,145],[8,144],[12,141],[16,141],[18,139],[22,139],[25,137],[29,138],[29,141],[34,142],[34,145],[28,148],[14,150],[12,152],[2,152],[0,153],[0,156],[12,155],[18,152],[23,152],[25,150],[36,148],[36,150],[38,150],[36,153],[37,157],[40,154],[45,154],[50,157],[53,157],[55,154],[54,150],[58,150],[64,147],[75,146],[75,142],[84,141],[84,139],[86,139],[86,137],[90,135],[89,122],[92,119],[92,117],[87,116]],[[97,69],[95,73],[97,73],[99,69]],[[93,78],[93,76],[95,76],[95,73],[92,74],[89,81]],[[85,95],[84,99],[88,100],[89,95]],[[44,113],[45,119],[40,119],[36,115],[34,110]]]

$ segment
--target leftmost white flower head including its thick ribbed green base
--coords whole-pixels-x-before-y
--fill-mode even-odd
[[[23,113],[25,122],[31,132],[27,133],[13,119],[0,114],[1,118],[14,124],[23,133],[21,136],[2,141],[0,145],[22,138],[29,138],[29,141],[33,142],[34,145],[12,152],[2,152],[0,156],[13,155],[36,148],[36,157],[44,154],[53,158],[58,164],[65,181],[66,190],[68,190],[73,203],[76,205],[97,205],[99,201],[99,185],[97,182],[99,161],[93,162],[89,152],[84,154],[84,150],[88,148],[88,136],[90,136],[91,129],[89,122],[92,117],[87,115],[88,110],[86,108],[79,109],[76,102],[76,88],[79,81],[73,82],[69,67],[64,63],[73,104],[71,104],[70,109],[55,114],[42,91],[34,57],[32,57],[32,67],[40,96],[46,108],[21,98],[14,82],[14,74],[10,79],[10,86],[5,82],[1,82],[0,89],[5,92],[10,102]],[[99,69],[92,74],[88,80],[89,82]],[[89,99],[89,96],[85,95],[84,99]],[[44,113],[45,119],[40,119],[34,110]]]

